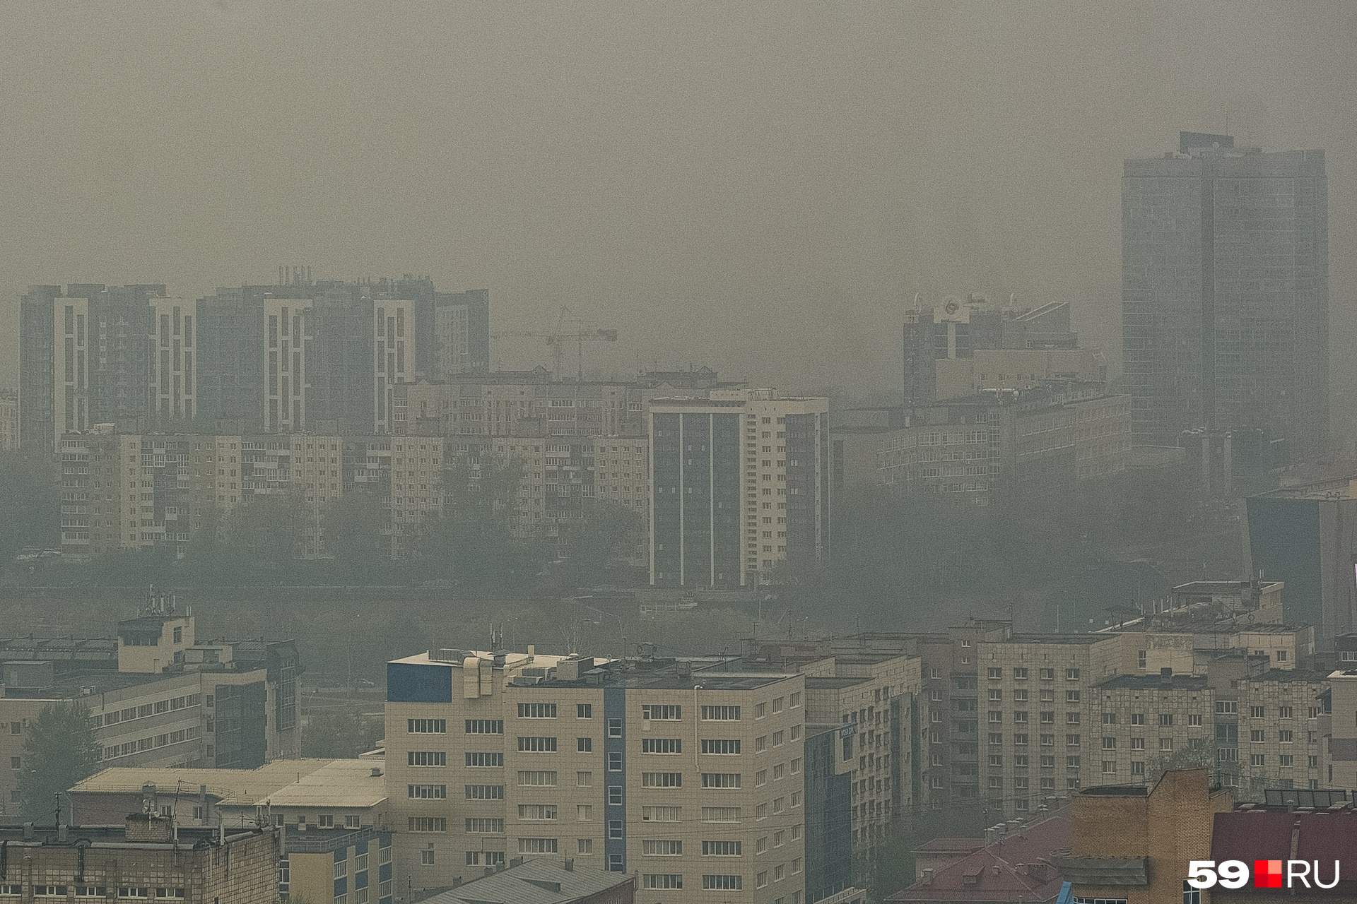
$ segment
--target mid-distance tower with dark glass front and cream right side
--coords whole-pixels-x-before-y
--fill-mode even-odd
[[[828,553],[828,398],[654,398],[650,453],[653,585],[744,587]]]

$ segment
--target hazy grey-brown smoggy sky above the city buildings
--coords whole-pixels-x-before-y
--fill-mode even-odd
[[[1121,160],[1228,114],[1327,152],[1341,398],[1354,98],[1350,1],[8,0],[0,335],[27,283],[299,263],[489,287],[493,329],[569,305],[617,373],[898,393],[915,291],[1084,300],[1115,351]]]

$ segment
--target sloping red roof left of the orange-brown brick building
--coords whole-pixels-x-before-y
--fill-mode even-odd
[[[1050,855],[1069,847],[1069,810],[1029,823],[896,892],[887,901],[1054,901],[1060,873]]]

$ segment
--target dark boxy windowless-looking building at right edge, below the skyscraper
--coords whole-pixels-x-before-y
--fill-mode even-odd
[[[1244,500],[1248,573],[1285,583],[1285,619],[1315,626],[1315,644],[1357,629],[1357,481],[1284,487]]]

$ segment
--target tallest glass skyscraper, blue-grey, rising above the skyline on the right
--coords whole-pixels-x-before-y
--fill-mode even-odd
[[[1329,442],[1323,150],[1179,133],[1122,171],[1122,347],[1137,445],[1259,427],[1291,457]]]

